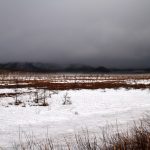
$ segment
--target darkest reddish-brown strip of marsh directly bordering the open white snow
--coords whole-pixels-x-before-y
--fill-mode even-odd
[[[46,88],[49,90],[69,90],[69,89],[118,89],[118,88],[133,88],[133,89],[146,89],[150,88],[150,84],[128,84],[124,81],[105,81],[105,82],[90,82],[90,83],[51,83],[46,80],[34,80],[34,81],[18,81],[17,88]],[[23,84],[26,83],[26,84]],[[1,85],[1,88],[16,88],[16,84],[13,85]]]

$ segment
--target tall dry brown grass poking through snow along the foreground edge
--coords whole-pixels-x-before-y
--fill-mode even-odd
[[[127,131],[121,132],[117,127],[115,134],[112,129],[103,129],[102,136],[91,137],[88,130],[83,134],[76,134],[73,142],[65,139],[65,144],[54,144],[51,138],[38,141],[36,138],[27,137],[26,142],[15,145],[15,150],[149,150],[150,149],[150,119],[140,120],[140,124]]]

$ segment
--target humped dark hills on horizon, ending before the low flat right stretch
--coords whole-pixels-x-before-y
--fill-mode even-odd
[[[87,65],[60,66],[48,63],[4,63],[0,64],[1,70],[26,71],[26,72],[110,72],[105,67],[91,67]]]

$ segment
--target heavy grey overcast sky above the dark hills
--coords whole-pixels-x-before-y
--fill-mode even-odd
[[[0,0],[0,62],[150,67],[150,0]]]

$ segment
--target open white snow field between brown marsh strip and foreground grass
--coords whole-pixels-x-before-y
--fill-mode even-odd
[[[15,93],[15,89],[0,89],[0,93]],[[150,90],[69,90],[46,91],[49,106],[33,103],[36,90],[18,89],[22,104],[14,105],[15,96],[0,97],[0,146],[11,147],[19,139],[19,132],[34,133],[37,138],[74,135],[88,128],[96,133],[106,124],[125,125],[150,111]],[[41,96],[43,90],[39,90]],[[62,105],[68,94],[72,104]]]

